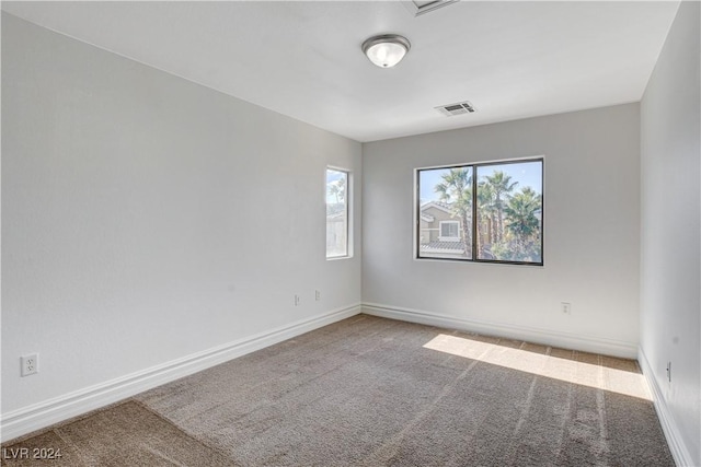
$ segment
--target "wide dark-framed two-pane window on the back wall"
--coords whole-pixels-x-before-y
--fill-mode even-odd
[[[543,264],[543,160],[416,171],[416,257]]]

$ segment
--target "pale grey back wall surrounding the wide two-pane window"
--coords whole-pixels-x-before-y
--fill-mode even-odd
[[[364,144],[364,304],[634,357],[639,130],[639,105],[628,104]],[[545,159],[544,267],[413,259],[414,168],[533,155]]]

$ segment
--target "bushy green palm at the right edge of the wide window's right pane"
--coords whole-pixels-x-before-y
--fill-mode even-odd
[[[540,257],[540,220],[538,212],[542,209],[542,198],[532,188],[526,187],[514,195],[504,208],[506,213],[506,229],[516,238],[516,247],[519,254],[528,256],[527,249],[533,249]]]

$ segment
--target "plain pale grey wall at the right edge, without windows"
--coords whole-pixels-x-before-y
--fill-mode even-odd
[[[641,104],[641,363],[687,465],[701,466],[701,73],[682,2]],[[671,362],[671,382],[667,362]],[[669,434],[669,433],[668,433]]]

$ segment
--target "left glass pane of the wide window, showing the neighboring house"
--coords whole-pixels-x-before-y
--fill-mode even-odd
[[[418,171],[422,258],[472,258],[472,167]]]

